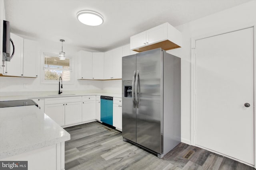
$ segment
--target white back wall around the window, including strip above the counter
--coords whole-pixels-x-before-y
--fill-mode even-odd
[[[56,84],[42,84],[42,53],[56,53],[61,50],[61,42],[48,42],[40,40],[39,49],[40,55],[36,56],[38,61],[38,78],[20,78],[20,77],[0,77],[0,96],[6,96],[12,94],[12,92],[32,92],[32,91],[56,91],[58,92],[58,83]],[[83,49],[66,45],[63,43],[63,51],[66,52],[66,56],[71,56],[76,63],[77,52],[80,50],[91,51],[89,49]],[[92,51],[94,52],[94,51]],[[84,91],[101,91],[102,83],[94,80],[77,80],[76,79],[76,65],[74,64],[74,84],[63,84],[63,92],[70,90],[84,90]],[[13,93],[15,94],[15,93]]]

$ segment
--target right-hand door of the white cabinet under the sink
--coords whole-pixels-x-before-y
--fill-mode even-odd
[[[65,104],[65,125],[82,122],[82,104],[73,102]]]

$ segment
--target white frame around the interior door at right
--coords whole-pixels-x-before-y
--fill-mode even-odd
[[[241,29],[246,29],[246,28],[250,28],[250,27],[253,27],[254,28],[254,165],[252,164],[248,164],[246,162],[243,162],[241,160],[237,160],[235,158],[232,158],[230,156],[227,156],[225,154],[222,154],[222,153],[219,153],[219,152],[216,152],[214,150],[210,150],[210,149],[206,149],[206,148],[203,148],[203,149],[206,149],[206,150],[209,150],[211,152],[214,152],[214,153],[217,153],[217,154],[220,154],[222,156],[226,156],[228,158],[231,158],[233,160],[237,160],[238,162],[242,162],[244,164],[247,164],[249,166],[252,166],[254,168],[256,168],[256,58],[255,58],[255,52],[256,52],[256,23],[253,23],[253,24],[249,24],[249,25],[244,25],[244,26],[240,26],[240,27],[235,27],[234,28],[228,28],[228,29],[222,29],[222,30],[218,30],[214,33],[208,33],[206,35],[202,35],[202,36],[197,36],[197,37],[192,37],[191,38],[191,94],[190,94],[190,100],[191,100],[191,103],[190,103],[190,114],[191,114],[191,119],[190,119],[190,143],[192,146],[196,146],[196,147],[200,147],[200,146],[197,146],[195,144],[195,115],[196,115],[196,89],[195,89],[195,85],[196,85],[196,40],[200,40],[200,39],[204,39],[204,38],[209,38],[209,37],[213,37],[213,36],[216,36],[216,35],[221,35],[221,34],[225,34],[225,33],[230,33],[230,32],[233,32],[233,31],[238,31],[238,30],[241,30]],[[202,147],[200,147],[202,148]]]

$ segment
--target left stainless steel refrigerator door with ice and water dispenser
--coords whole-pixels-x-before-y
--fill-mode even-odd
[[[136,55],[122,57],[122,135],[133,142],[136,142],[135,74]]]

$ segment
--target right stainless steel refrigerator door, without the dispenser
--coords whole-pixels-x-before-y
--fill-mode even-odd
[[[162,50],[136,54],[136,143],[162,154]]]

